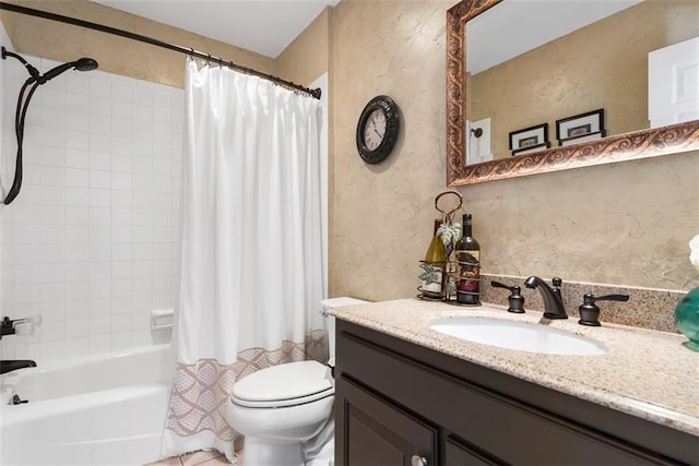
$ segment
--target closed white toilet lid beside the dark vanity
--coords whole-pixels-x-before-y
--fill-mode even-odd
[[[240,406],[282,407],[310,403],[334,393],[329,369],[299,361],[259,370],[233,385],[230,399]]]

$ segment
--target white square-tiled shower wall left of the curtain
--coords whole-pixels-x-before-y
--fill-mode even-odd
[[[42,72],[60,64],[25,58]],[[2,68],[4,195],[28,74],[16,60]],[[44,322],[33,336],[2,338],[0,357],[46,361],[153,343],[151,311],[177,296],[182,105],[180,88],[98,70],[36,91],[22,191],[0,206],[0,310]]]

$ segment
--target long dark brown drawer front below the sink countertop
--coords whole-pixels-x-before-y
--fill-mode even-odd
[[[429,419],[477,451],[511,464],[667,464],[663,457],[496,391],[337,335],[337,368],[395,405]],[[545,407],[545,399],[543,399]]]

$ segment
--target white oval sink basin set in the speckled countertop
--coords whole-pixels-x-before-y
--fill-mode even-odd
[[[606,346],[594,339],[526,322],[469,316],[440,319],[430,322],[429,327],[469,342],[520,351],[568,356],[607,353]]]

